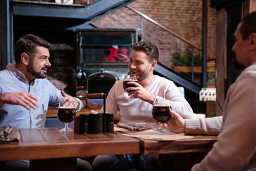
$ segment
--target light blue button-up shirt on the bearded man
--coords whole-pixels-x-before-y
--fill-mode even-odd
[[[0,94],[25,91],[39,99],[39,107],[27,110],[21,105],[4,104],[0,108],[0,127],[10,125],[12,128],[43,128],[46,123],[48,105],[57,108],[63,99],[58,90],[47,79],[35,79],[29,82],[13,63],[9,63],[4,71],[0,71]],[[78,100],[78,99],[77,99]],[[80,103],[80,110],[83,105]]]

